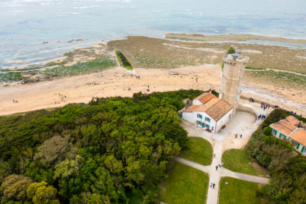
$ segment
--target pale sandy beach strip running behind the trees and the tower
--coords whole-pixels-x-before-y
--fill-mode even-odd
[[[167,91],[179,89],[209,88],[218,90],[220,64],[183,66],[176,69],[136,68],[128,72],[120,66],[104,71],[0,87],[0,115],[41,108],[61,107],[68,103],[89,102],[92,97],[132,96],[134,92]],[[135,75],[140,76],[136,79]],[[196,78],[198,79],[196,82]],[[149,85],[149,91],[147,86]],[[131,88],[131,91],[128,90]],[[293,96],[292,93],[301,93]],[[306,114],[305,90],[277,89],[272,85],[260,87],[256,83],[244,83],[242,95],[278,104],[280,107]],[[286,96],[286,97],[284,97]],[[13,103],[13,100],[18,102]]]

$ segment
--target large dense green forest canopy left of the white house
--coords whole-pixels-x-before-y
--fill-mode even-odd
[[[150,202],[186,142],[181,100],[202,92],[139,92],[0,117],[1,203]]]

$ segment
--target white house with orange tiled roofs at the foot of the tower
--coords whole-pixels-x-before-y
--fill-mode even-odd
[[[231,117],[233,106],[211,92],[204,92],[192,100],[182,112],[182,118],[209,131],[218,131]]]

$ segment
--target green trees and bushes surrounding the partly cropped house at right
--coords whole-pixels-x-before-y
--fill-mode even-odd
[[[302,204],[306,200],[306,157],[292,151],[294,147],[289,140],[264,134],[269,124],[290,114],[284,109],[274,109],[246,145],[249,155],[270,170],[269,184],[257,193],[261,203]]]

